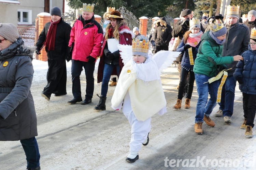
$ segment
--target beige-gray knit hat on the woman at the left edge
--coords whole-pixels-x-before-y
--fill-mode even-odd
[[[18,29],[12,23],[0,23],[0,35],[12,43],[19,38]]]

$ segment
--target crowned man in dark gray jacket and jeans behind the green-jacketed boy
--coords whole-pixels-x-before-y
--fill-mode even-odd
[[[250,31],[244,25],[239,23],[239,8],[240,6],[228,5],[226,13],[226,41],[223,44],[222,56],[241,55],[248,50],[250,40]],[[237,62],[226,64],[228,77],[222,88],[221,102],[219,102],[219,110],[215,114],[217,117],[222,117],[225,123],[231,123],[231,116],[234,107],[234,92],[236,88],[236,80],[233,77]],[[225,68],[224,68],[225,69]]]

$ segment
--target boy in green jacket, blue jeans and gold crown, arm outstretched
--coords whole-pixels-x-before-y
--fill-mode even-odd
[[[215,126],[215,123],[210,119],[210,114],[216,106],[219,81],[210,83],[209,79],[216,76],[218,65],[242,59],[241,55],[225,57],[221,55],[227,28],[222,23],[212,23],[211,26],[212,31],[201,36],[201,44],[193,68],[198,93],[194,130],[196,134],[200,135],[203,133],[203,121],[211,127]],[[210,94],[209,101],[208,93]]]

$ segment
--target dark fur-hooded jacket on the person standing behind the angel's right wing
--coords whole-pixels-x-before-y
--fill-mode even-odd
[[[160,22],[164,23],[163,26]],[[162,17],[156,21],[156,29],[154,32],[154,39],[156,46],[168,47],[172,38],[172,28],[166,23],[165,17]]]

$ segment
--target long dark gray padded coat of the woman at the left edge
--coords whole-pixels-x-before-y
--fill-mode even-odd
[[[30,92],[33,50],[19,37],[0,51],[0,141],[37,136],[37,117]]]

